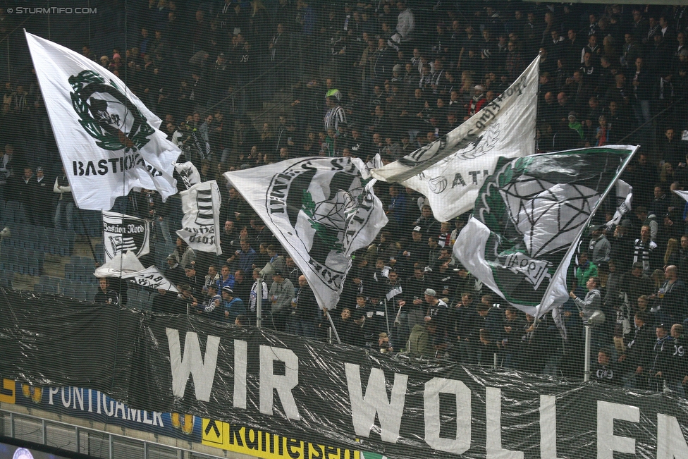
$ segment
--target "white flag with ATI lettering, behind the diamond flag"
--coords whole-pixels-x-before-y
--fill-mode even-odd
[[[537,57],[507,90],[465,123],[402,159],[374,169],[373,176],[421,192],[439,221],[472,209],[499,157],[535,153],[539,62]]]

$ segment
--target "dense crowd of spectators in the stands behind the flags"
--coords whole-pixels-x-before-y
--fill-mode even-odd
[[[569,276],[555,320],[500,299],[451,257],[467,216],[436,221],[424,197],[378,182],[388,226],[354,266],[331,317],[344,343],[385,353],[579,378],[583,324],[597,310],[593,379],[634,388],[688,382],[688,7],[521,2],[208,1],[190,10],[140,1],[129,49],[84,46],[164,120],[202,180],[218,180],[222,255],[176,238],[180,201],[132,192],[116,209],[149,219],[157,262],[180,293],[154,312],[195,314],[325,338],[328,318],[297,269],[223,173],[295,157],[394,161],[450,132],[505,90],[539,54],[538,152],[641,145],[622,179],[633,212],[606,226],[606,202]],[[194,7],[195,8],[195,7]],[[37,164],[27,133],[51,137],[35,75],[4,85],[0,193],[25,221],[75,228],[56,151]],[[267,109],[266,109],[267,108]],[[266,110],[265,110],[266,109]],[[266,112],[269,111],[269,114]],[[45,168],[45,169],[44,169]],[[47,173],[49,170],[50,173]],[[180,183],[180,189],[183,185]],[[175,242],[176,241],[176,242]],[[153,252],[153,251],[152,251]],[[276,274],[259,280],[271,263]],[[116,279],[97,302],[126,303]],[[688,326],[688,325],[687,325]],[[563,332],[565,330],[565,332]],[[537,356],[537,357],[534,357]]]

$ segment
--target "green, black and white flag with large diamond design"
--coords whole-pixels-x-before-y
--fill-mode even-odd
[[[453,253],[511,305],[539,317],[569,298],[577,242],[637,147],[575,149],[500,160]]]

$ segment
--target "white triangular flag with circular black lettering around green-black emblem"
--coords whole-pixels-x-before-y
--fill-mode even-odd
[[[294,259],[320,307],[335,307],[352,252],[388,221],[363,161],[288,159],[225,176]]]

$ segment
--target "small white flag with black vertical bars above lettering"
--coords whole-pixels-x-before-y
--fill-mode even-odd
[[[177,235],[193,250],[222,253],[220,248],[220,190],[215,180],[197,183],[179,193],[182,198],[182,229]]]

